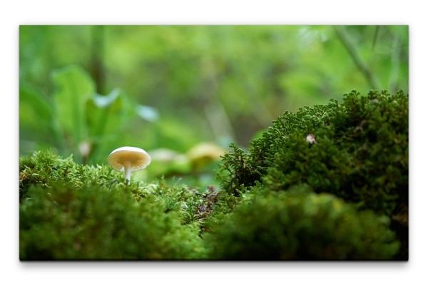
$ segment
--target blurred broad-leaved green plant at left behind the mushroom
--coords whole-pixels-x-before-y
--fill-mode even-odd
[[[79,66],[66,66],[51,73],[55,89],[51,97],[27,84],[20,87],[21,151],[45,150],[74,154],[78,162],[104,161],[118,134],[125,133],[136,117],[156,120],[156,111],[133,102],[117,88],[106,96]],[[101,157],[101,158],[100,158]],[[93,161],[93,160],[92,160]]]

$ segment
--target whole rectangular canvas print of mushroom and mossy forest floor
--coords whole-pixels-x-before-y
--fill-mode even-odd
[[[19,27],[19,259],[407,261],[409,26]]]

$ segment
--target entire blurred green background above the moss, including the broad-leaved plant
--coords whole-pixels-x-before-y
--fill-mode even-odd
[[[134,176],[215,183],[231,142],[286,110],[370,89],[408,93],[408,26],[20,26],[19,151],[106,163],[131,145]]]

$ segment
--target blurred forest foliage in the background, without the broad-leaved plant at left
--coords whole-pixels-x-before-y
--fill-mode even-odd
[[[123,139],[180,152],[198,141],[248,146],[285,109],[339,99],[350,87],[408,91],[408,26],[343,28],[378,86],[355,65],[336,26],[284,25],[20,26],[20,83],[53,98],[51,72],[78,65],[96,93],[121,87],[159,111],[159,126],[136,119]],[[168,128],[176,118],[180,127]],[[101,163],[94,156],[88,162]]]

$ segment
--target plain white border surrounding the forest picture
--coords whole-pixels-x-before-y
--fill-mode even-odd
[[[415,4],[412,4],[415,3]],[[8,285],[423,285],[427,282],[427,16],[423,1],[4,1],[0,11],[1,273]],[[46,262],[18,260],[20,24],[409,24],[409,262]],[[4,102],[6,101],[6,104]],[[422,125],[422,126],[421,126]],[[420,127],[420,128],[417,128]],[[6,184],[5,184],[6,183]],[[422,281],[422,283],[420,282]],[[423,282],[424,281],[424,282]],[[2,283],[3,284],[3,283]]]

